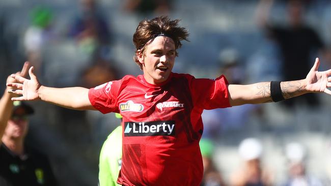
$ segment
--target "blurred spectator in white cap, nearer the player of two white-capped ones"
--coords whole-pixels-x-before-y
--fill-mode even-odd
[[[239,155],[244,160],[242,167],[233,173],[230,185],[266,186],[273,185],[273,177],[261,163],[263,147],[260,140],[246,138],[239,145]]]

